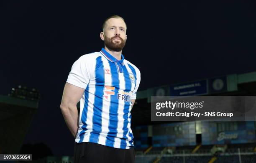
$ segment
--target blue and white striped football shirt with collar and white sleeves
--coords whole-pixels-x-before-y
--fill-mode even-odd
[[[67,83],[85,89],[75,141],[131,148],[131,99],[136,99],[140,80],[140,71],[123,54],[119,61],[104,48],[75,61]]]

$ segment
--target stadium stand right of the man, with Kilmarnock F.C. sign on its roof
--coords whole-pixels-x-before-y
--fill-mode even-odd
[[[231,74],[196,82],[201,86],[204,82],[206,83],[204,87],[207,87],[205,89],[207,91],[203,94],[206,96],[256,96],[256,72]],[[194,83],[185,82],[183,86]],[[137,93],[136,103],[132,109],[132,127],[143,126],[143,139],[140,140],[140,130],[136,131],[138,136],[136,140],[140,143],[138,147],[153,145],[153,148],[144,153],[147,148],[138,148],[135,141],[136,163],[256,163],[256,123],[254,121],[187,123],[151,121],[151,96],[157,96],[159,92],[162,96],[170,96],[172,88],[177,85],[182,84],[164,85]],[[200,90],[195,88],[195,92],[201,90],[202,88]],[[184,130],[185,125],[195,132]],[[148,130],[145,130],[145,126],[148,126]],[[178,129],[175,128],[175,132],[169,132],[172,127]],[[157,134],[154,133],[155,129]],[[161,135],[160,132],[166,135]],[[218,139],[219,134],[223,135],[223,132],[224,135],[233,134],[233,138]],[[146,140],[146,133],[148,142],[143,141]]]

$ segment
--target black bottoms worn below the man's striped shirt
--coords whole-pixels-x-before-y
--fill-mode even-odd
[[[74,163],[134,163],[134,148],[119,149],[97,143],[74,144]]]

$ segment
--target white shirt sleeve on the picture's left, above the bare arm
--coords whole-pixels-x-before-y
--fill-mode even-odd
[[[87,69],[88,65],[86,64],[88,64],[88,62],[84,57],[80,57],[75,61],[69,72],[67,83],[86,89],[90,81],[90,69]]]

